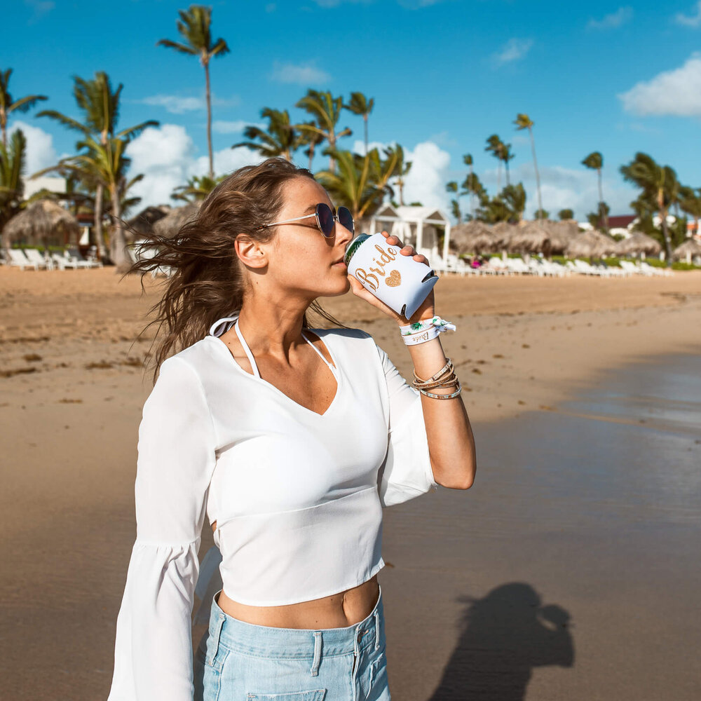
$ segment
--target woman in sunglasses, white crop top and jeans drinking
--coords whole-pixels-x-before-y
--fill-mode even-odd
[[[390,698],[381,508],[468,489],[475,448],[433,291],[411,327],[339,262],[352,238],[350,212],[311,172],[269,158],[135,264],[175,273],[151,322],[166,333],[139,426],[109,701]],[[404,327],[418,392],[372,336],[315,302],[349,288]],[[310,329],[309,308],[339,327]],[[223,587],[193,674],[205,516]]]

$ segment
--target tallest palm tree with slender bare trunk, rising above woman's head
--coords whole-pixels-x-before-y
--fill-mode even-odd
[[[210,156],[210,178],[215,177],[214,155],[212,154],[212,90],[210,87],[210,61],[215,56],[229,53],[224,39],[212,41],[212,8],[191,5],[187,11],[178,10],[180,19],[175,23],[183,42],[161,39],[156,46],[174,48],[179,53],[199,56],[205,69],[205,89],[207,94],[207,151]]]

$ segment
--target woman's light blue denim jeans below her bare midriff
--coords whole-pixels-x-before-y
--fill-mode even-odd
[[[195,654],[196,701],[390,701],[382,590],[367,618],[344,628],[253,625],[218,597]]]

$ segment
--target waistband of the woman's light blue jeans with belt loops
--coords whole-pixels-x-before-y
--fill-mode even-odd
[[[247,623],[224,613],[217,604],[218,594],[212,597],[209,626],[214,650],[222,644],[229,650],[258,657],[318,659],[320,655],[359,653],[369,646],[377,649],[385,643],[381,587],[372,611],[360,622],[341,628],[278,628]]]

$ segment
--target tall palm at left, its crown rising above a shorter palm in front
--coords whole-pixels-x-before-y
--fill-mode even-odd
[[[119,121],[119,100],[123,88],[123,83],[119,83],[116,90],[113,90],[109,76],[104,71],[96,72],[92,80],[74,76],[73,95],[82,113],[83,121],[66,116],[55,109],[43,110],[36,116],[55,119],[64,127],[80,132],[83,139],[93,137],[102,144],[102,147],[107,147],[109,139],[124,139],[126,142],[130,142],[147,127],[156,127],[159,123],[154,119],[149,119],[116,132]],[[83,175],[88,177],[87,172],[83,172]],[[102,236],[104,184],[100,179],[93,179],[86,184],[95,190],[95,239],[102,258],[105,254],[104,237]]]

